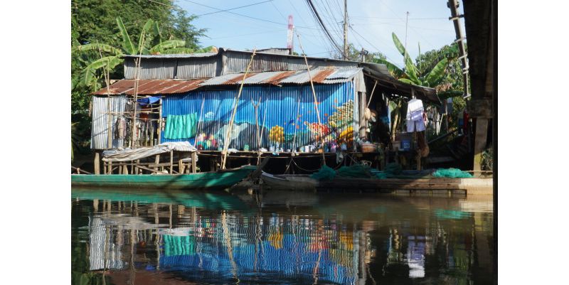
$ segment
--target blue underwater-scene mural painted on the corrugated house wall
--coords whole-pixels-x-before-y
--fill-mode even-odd
[[[357,114],[354,115],[351,82],[317,85],[315,90],[321,124],[309,86],[243,87],[230,134],[227,134],[228,123],[236,90],[196,91],[187,95],[166,96],[163,100],[163,117],[196,113],[198,120],[196,136],[163,141],[189,141],[203,150],[223,148],[225,136],[228,136],[229,148],[240,150],[245,146],[256,150],[257,136],[261,136],[261,147],[265,149],[270,149],[270,146],[283,150],[292,149],[293,146],[295,149],[307,145],[319,146],[322,140],[325,149],[342,143],[351,144],[353,118],[357,117]]]

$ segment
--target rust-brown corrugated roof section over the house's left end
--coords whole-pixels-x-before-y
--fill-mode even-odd
[[[204,79],[194,80],[139,80],[139,95],[179,94],[200,87]],[[110,95],[134,95],[134,80],[119,80],[109,87]],[[107,88],[93,93],[93,95],[107,95]]]

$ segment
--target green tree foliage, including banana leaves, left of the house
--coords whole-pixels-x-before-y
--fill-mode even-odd
[[[122,78],[117,55],[137,50],[140,35],[147,35],[144,50],[148,53],[174,50],[174,46],[178,52],[199,48],[198,38],[206,30],[193,26],[196,16],[176,7],[174,1],[160,2],[165,5],[142,0],[71,1],[71,121],[77,122],[78,146],[87,146],[90,138],[89,94],[103,86],[101,68],[110,69],[113,79]],[[117,23],[118,17],[122,23]]]

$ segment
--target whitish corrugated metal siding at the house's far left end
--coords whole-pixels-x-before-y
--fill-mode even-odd
[[[92,109],[92,127],[91,127],[91,149],[108,149],[107,148],[107,97],[93,96],[93,109]],[[122,112],[124,111],[124,105],[127,103],[127,96],[113,96],[110,97],[111,100],[111,112]],[[117,120],[117,115],[112,115],[112,131],[115,131],[115,121]],[[112,148],[117,148],[122,146],[124,139],[112,139]]]

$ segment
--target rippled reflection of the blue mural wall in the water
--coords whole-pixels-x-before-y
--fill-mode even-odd
[[[368,244],[358,242],[360,231],[342,225],[278,216],[235,222],[240,218],[223,214],[222,221],[213,224],[201,217],[185,236],[163,235],[161,269],[184,271],[190,279],[223,276],[246,281],[255,274],[255,278],[353,284],[361,275],[360,252],[363,257],[370,255]]]

